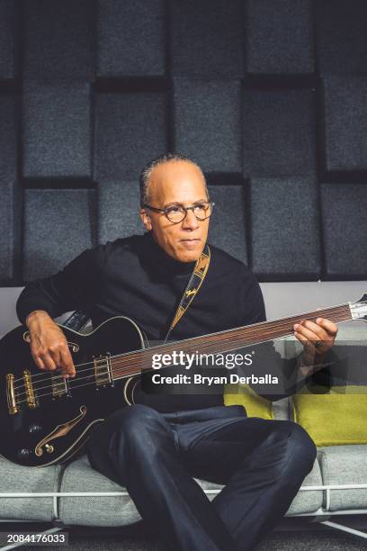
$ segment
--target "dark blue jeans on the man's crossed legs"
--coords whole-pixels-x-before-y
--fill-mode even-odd
[[[94,429],[91,465],[125,486],[175,551],[252,549],[288,510],[316,457],[304,429],[241,406],[115,411]],[[209,501],[192,476],[225,484]]]

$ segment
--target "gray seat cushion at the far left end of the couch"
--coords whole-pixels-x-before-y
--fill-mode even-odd
[[[0,518],[54,519],[53,498],[3,498],[2,492],[58,492],[61,467],[25,467],[0,456]]]

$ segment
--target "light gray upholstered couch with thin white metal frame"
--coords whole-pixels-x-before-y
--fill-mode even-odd
[[[362,324],[361,324],[362,325]],[[365,327],[339,330],[339,338],[361,339]],[[280,347],[287,347],[281,342]],[[275,419],[289,419],[289,400],[274,402]],[[198,480],[209,499],[221,486]],[[321,447],[312,472],[287,516],[315,517],[329,527],[367,534],[329,519],[367,513],[367,446]],[[117,527],[139,520],[128,492],[94,471],[86,456],[68,465],[30,468],[0,458],[0,519],[46,521],[50,526]],[[7,547],[9,548],[9,547]]]

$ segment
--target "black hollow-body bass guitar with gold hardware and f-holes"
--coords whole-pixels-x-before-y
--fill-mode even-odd
[[[185,354],[226,353],[291,335],[295,323],[318,317],[336,323],[367,321],[367,294],[356,303],[150,348],[138,325],[127,317],[104,321],[86,335],[60,325],[76,366],[76,376],[68,379],[60,369],[38,369],[31,357],[29,330],[20,325],[0,340],[0,454],[19,465],[62,463],[84,447],[97,423],[134,403],[141,372],[152,369],[154,354],[177,349]]]

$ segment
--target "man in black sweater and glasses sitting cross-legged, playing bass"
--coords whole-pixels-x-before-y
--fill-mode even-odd
[[[66,339],[52,320],[72,309],[90,313],[94,327],[128,315],[150,341],[166,338],[205,246],[212,205],[201,168],[175,154],[145,167],[140,191],[148,233],[89,249],[22,292],[17,312],[31,332],[40,369],[61,367],[66,376],[75,375]],[[219,248],[210,251],[208,273],[171,333],[173,340],[265,319],[255,276]],[[286,369],[305,378],[313,369],[311,358],[316,364],[325,358],[337,327],[318,319],[302,321],[294,331],[304,353]],[[273,349],[264,358],[282,364]],[[225,407],[218,393],[156,395],[140,389],[138,402],[94,429],[88,456],[95,469],[126,486],[169,548],[253,548],[288,510],[314,463],[315,446],[300,426],[247,419],[242,407]],[[193,476],[226,485],[210,503]]]

